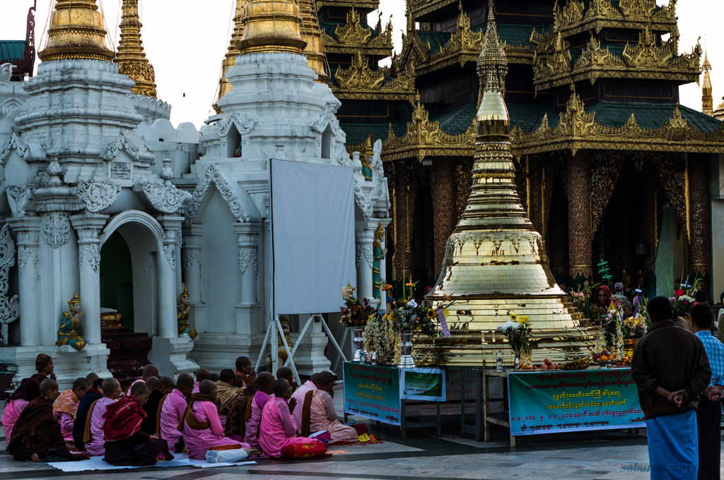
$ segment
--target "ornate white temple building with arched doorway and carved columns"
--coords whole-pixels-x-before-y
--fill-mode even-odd
[[[223,113],[199,132],[174,128],[170,106],[131,93],[136,83],[109,59],[56,58],[53,27],[36,77],[10,82],[0,67],[0,364],[17,372],[15,384],[34,373],[38,353],[53,357],[62,385],[91,371],[108,376],[109,304],[130,309],[124,326],[151,338],[148,360],[161,374],[256,359],[270,321],[271,158],[354,168],[357,287],[373,298],[374,232],[390,223],[380,145],[366,181],[345,150],[340,101],[306,56],[240,48]],[[184,290],[195,339],[179,333]],[[76,292],[80,351],[56,345]],[[295,353],[300,374],[329,368],[327,336],[312,330]]]

